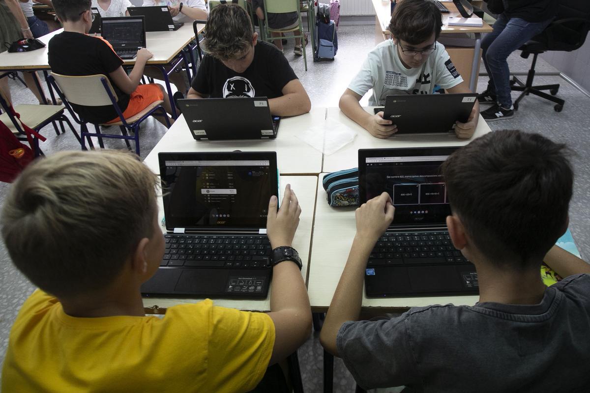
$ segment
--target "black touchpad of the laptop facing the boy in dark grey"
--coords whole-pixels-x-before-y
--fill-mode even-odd
[[[461,280],[454,266],[408,267],[412,290],[417,292],[461,290]]]

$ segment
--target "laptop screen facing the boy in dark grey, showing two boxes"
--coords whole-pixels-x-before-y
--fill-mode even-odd
[[[392,226],[444,225],[451,209],[439,167],[456,149],[359,150],[360,203],[387,191],[395,206]]]

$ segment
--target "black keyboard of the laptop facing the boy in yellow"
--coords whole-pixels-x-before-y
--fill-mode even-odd
[[[268,237],[231,235],[164,235],[160,266],[266,268]]]

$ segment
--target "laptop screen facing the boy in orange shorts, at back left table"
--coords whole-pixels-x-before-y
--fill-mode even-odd
[[[101,35],[113,48],[145,47],[143,18],[102,18]]]

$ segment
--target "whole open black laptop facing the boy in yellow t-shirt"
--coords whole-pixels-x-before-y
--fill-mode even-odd
[[[166,253],[144,295],[266,298],[277,153],[159,153]]]

